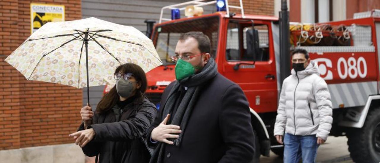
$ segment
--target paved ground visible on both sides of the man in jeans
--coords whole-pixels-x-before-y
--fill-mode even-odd
[[[260,163],[280,163],[282,158],[271,152],[271,157],[261,157]],[[347,137],[329,136],[318,148],[317,163],[353,163],[348,152]]]

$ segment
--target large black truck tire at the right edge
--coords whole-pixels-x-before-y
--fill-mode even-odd
[[[369,110],[362,128],[347,132],[348,151],[354,162],[380,162],[380,108]]]

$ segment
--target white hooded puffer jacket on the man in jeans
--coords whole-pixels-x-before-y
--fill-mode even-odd
[[[291,70],[280,94],[274,135],[312,135],[326,140],[332,123],[331,96],[318,65],[311,61],[305,70]]]

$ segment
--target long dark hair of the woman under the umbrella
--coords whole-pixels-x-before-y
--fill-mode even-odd
[[[116,72],[122,72],[122,73],[132,73],[133,76],[136,78],[136,81],[141,84],[141,87],[139,89],[136,89],[136,99],[135,103],[141,102],[145,98],[145,91],[147,88],[147,80],[144,70],[141,69],[140,66],[133,64],[133,63],[126,63],[123,65],[120,65],[116,68]],[[116,91],[116,85],[107,93],[105,96],[103,96],[97,105],[96,112],[99,114],[106,113],[108,110],[112,109],[114,105],[116,105],[116,102],[119,100],[119,94],[117,94]]]

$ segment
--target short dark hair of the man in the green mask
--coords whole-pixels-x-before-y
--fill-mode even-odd
[[[201,53],[211,52],[210,38],[207,37],[207,35],[203,34],[203,32],[187,32],[181,34],[179,40],[184,41],[189,37],[195,38],[195,40],[198,42],[198,49],[201,51]]]

